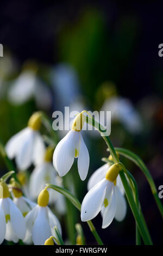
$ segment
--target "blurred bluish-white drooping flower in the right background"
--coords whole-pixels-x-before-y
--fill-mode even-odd
[[[121,97],[105,100],[101,111],[111,111],[111,119],[120,121],[131,133],[141,132],[142,120],[132,103]]]

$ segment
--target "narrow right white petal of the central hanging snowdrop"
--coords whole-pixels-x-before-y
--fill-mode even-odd
[[[87,172],[89,170],[90,164],[90,156],[89,151],[83,141],[82,134],[80,134],[80,148],[79,148],[79,156],[78,156],[78,172],[81,180],[85,180],[87,176]]]

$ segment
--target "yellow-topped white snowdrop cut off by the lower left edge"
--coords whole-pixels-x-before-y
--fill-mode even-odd
[[[26,222],[21,211],[9,198],[9,189],[5,182],[0,184],[0,243],[4,239],[18,242],[26,235]]]

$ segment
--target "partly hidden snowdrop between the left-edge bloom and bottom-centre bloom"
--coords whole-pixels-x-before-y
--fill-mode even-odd
[[[15,181],[14,178],[11,179],[10,187],[12,188],[12,197],[14,198],[13,202],[16,204],[17,208],[20,209],[22,215],[25,217],[28,212],[36,206],[36,204],[28,198],[23,197],[20,185],[18,184],[18,182]]]

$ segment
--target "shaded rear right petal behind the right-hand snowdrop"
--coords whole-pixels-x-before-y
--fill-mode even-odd
[[[115,186],[115,192],[116,192],[116,200],[117,200],[115,219],[117,221],[123,221],[127,211],[126,199],[120,192],[119,188],[116,186]]]

